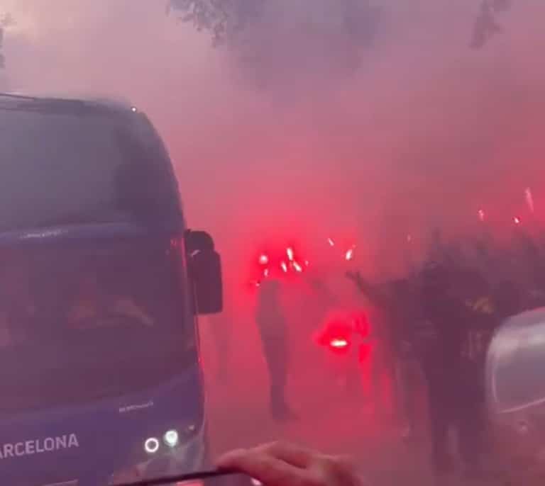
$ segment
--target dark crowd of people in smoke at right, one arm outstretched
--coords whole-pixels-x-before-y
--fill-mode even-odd
[[[485,413],[485,358],[494,330],[507,317],[545,305],[541,271],[545,245],[519,231],[509,242],[490,237],[437,239],[422,266],[381,285],[349,273],[379,307],[397,376],[398,397],[409,427],[416,368],[427,391],[431,464],[454,468],[449,431],[457,433],[466,475],[486,473],[490,450]]]

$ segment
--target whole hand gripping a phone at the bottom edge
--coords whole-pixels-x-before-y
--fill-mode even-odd
[[[264,486],[363,486],[348,460],[309,451],[291,443],[273,442],[226,453],[220,469],[236,470]]]

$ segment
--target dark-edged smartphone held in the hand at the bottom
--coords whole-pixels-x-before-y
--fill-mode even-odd
[[[262,486],[257,480],[241,473],[207,471],[153,480],[131,482],[119,486]]]

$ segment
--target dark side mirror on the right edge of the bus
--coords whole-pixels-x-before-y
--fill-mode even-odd
[[[224,308],[224,286],[221,256],[214,249],[214,239],[207,232],[188,230],[185,246],[197,313],[207,315],[221,312]]]

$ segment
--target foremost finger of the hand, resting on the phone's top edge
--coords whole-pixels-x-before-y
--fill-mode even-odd
[[[265,486],[307,486],[307,470],[299,469],[270,456],[258,448],[232,451],[217,463],[220,469],[237,470]]]

